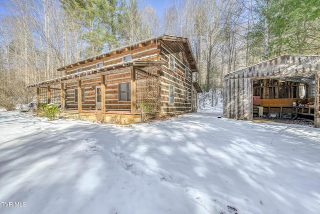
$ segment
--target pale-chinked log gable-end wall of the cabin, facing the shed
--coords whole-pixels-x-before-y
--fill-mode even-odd
[[[169,62],[169,56],[174,57],[174,71],[169,65],[162,66],[164,73],[161,76],[161,112],[163,114],[180,114],[191,112],[191,80],[192,72],[187,57],[183,51],[184,47],[177,42],[161,43],[161,57],[163,61]],[[185,67],[188,69],[188,78],[185,79]],[[174,105],[169,105],[169,85],[174,86]],[[188,92],[185,101],[185,91]]]

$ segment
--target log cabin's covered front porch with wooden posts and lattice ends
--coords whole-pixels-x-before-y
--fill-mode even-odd
[[[161,109],[158,66],[146,70],[131,66],[37,87],[37,103],[60,105],[59,116],[67,119],[141,122],[159,115]]]

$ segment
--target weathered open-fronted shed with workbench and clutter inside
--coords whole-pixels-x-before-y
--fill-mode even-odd
[[[223,117],[302,118],[320,127],[320,56],[282,55],[224,77]]]

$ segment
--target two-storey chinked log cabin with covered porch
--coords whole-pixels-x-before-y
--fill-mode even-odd
[[[187,38],[162,35],[58,68],[36,87],[37,105],[58,103],[65,118],[135,123],[195,112],[198,72]]]

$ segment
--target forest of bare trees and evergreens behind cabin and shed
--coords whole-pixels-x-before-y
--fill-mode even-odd
[[[0,15],[0,106],[33,99],[24,86],[57,68],[162,34],[187,37],[212,105],[223,76],[282,54],[320,54],[318,0],[7,0]]]

